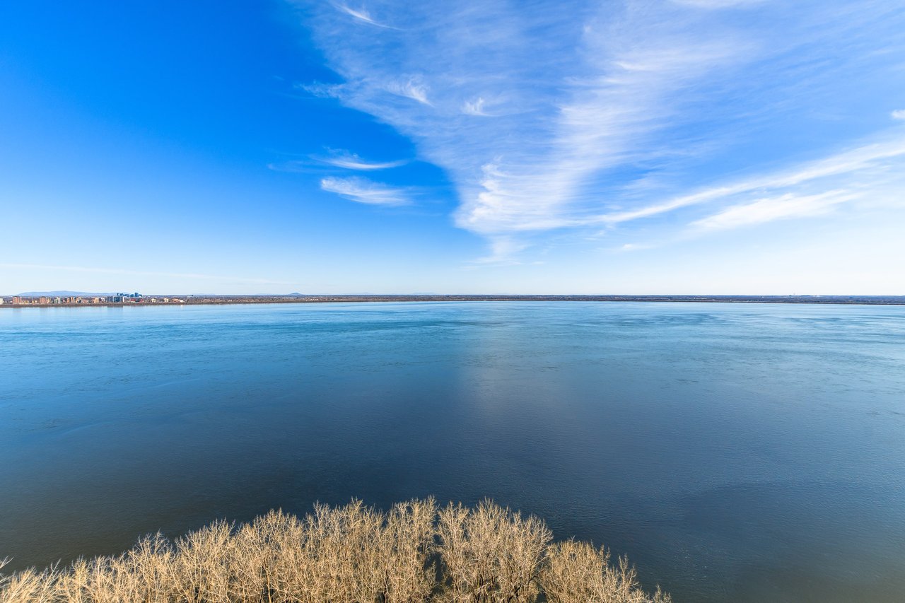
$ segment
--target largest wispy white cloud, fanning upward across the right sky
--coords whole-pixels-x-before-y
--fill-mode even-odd
[[[421,158],[451,177],[455,223],[486,236],[491,258],[518,254],[554,229],[614,229],[702,204],[720,212],[758,198],[863,192],[905,168],[898,153],[859,159],[822,150],[851,147],[842,136],[820,148],[808,148],[804,136],[794,148],[776,144],[853,81],[880,85],[898,69],[905,43],[895,33],[905,15],[880,0],[567,0],[530,8],[377,0],[368,8],[399,26],[379,32],[357,26],[374,21],[364,6],[340,8],[310,5],[313,39],[344,81],[311,90],[412,139]],[[821,153],[810,166],[802,160]],[[819,174],[821,161],[831,173]],[[731,180],[728,172],[748,176]],[[757,187],[769,195],[757,196]]]

